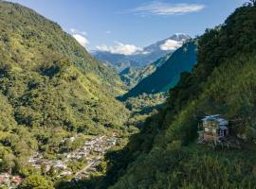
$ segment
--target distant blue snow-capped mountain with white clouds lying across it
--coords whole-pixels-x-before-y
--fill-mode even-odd
[[[96,46],[97,50],[91,51],[91,53],[98,60],[107,62],[121,71],[129,66],[141,67],[166,57],[190,39],[191,37],[185,33],[175,33],[167,39],[152,43],[144,48],[134,44],[116,42],[112,46],[98,45]]]

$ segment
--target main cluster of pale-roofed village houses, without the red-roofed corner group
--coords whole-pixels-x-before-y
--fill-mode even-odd
[[[71,137],[69,140],[72,142],[75,140],[75,137]],[[82,176],[87,177],[91,172],[95,171],[95,167],[101,163],[107,149],[109,149],[111,146],[115,146],[116,143],[116,137],[108,138],[107,136],[98,136],[95,139],[86,141],[84,146],[81,148],[70,153],[62,154],[64,157],[62,160],[44,159],[39,152],[36,152],[32,157],[30,157],[28,163],[37,169],[41,169],[43,164],[45,164],[46,172],[49,171],[51,167],[53,167],[55,171],[60,173],[59,177],[61,178],[74,175],[76,178],[81,179]],[[86,158],[87,166],[84,167],[84,169],[82,169],[79,174],[73,173],[67,167],[68,162],[80,160],[82,158]]]

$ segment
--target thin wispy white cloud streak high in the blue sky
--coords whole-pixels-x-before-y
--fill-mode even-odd
[[[205,9],[206,6],[202,4],[170,4],[153,1],[148,4],[144,4],[135,9],[128,9],[123,11],[124,13],[134,12],[141,16],[146,15],[182,15],[191,12],[197,12]]]

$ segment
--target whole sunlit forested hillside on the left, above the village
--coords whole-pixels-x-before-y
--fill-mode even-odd
[[[21,173],[32,151],[54,155],[76,132],[122,128],[119,77],[60,26],[1,1],[0,31],[1,171]]]

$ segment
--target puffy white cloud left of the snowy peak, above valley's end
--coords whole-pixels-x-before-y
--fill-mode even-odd
[[[143,51],[143,48],[137,47],[134,44],[124,44],[116,42],[114,46],[107,46],[105,44],[98,45],[96,48],[103,52],[110,52],[121,55],[134,55]]]

